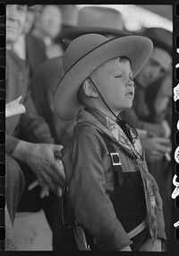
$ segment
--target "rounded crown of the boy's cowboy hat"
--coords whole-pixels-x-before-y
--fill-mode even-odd
[[[77,61],[107,41],[107,38],[98,34],[85,34],[72,40],[64,53],[64,72],[67,72]]]

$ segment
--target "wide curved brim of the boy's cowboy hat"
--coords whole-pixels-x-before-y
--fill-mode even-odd
[[[81,108],[77,93],[82,82],[98,66],[115,57],[127,57],[131,62],[133,77],[146,64],[152,52],[152,41],[141,36],[114,38],[100,44],[81,57],[62,77],[56,87],[54,107],[56,114],[65,120],[76,118]]]

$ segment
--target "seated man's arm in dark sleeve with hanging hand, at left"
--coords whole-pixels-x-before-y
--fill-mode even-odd
[[[38,115],[30,98],[30,91],[24,105],[26,113],[21,115],[20,127],[23,138],[29,142],[7,135],[6,153],[27,163],[42,189],[51,189],[60,195],[64,186],[64,168],[56,161],[55,152],[60,152],[62,146],[54,145],[47,123]]]

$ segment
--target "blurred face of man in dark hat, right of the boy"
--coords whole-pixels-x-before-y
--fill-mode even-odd
[[[164,49],[155,47],[148,63],[143,67],[136,81],[143,87],[154,83],[159,77],[166,74],[166,71],[172,65],[172,57]]]

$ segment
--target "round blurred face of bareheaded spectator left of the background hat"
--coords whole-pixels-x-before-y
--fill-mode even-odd
[[[40,14],[39,22],[43,33],[53,39],[61,31],[62,13],[57,6],[47,5]]]

